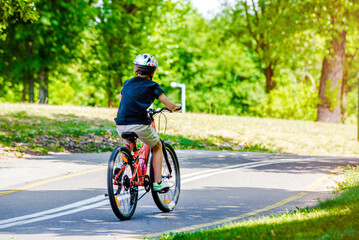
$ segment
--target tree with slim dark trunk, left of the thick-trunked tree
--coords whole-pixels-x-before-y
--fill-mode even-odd
[[[267,93],[274,88],[278,64],[290,54],[293,35],[300,30],[295,25],[299,16],[292,9],[292,1],[241,0],[228,10],[232,26],[229,33],[256,53],[265,74]]]

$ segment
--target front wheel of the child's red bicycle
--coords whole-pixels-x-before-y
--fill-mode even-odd
[[[172,174],[168,178],[169,181],[174,183],[174,186],[170,188],[167,192],[155,192],[153,190],[153,185],[151,184],[151,193],[154,202],[156,203],[157,207],[163,212],[170,212],[172,211],[175,206],[177,205],[180,191],[181,191],[181,176],[180,176],[180,168],[178,163],[178,158],[176,155],[175,150],[168,142],[162,142],[163,147],[167,152],[167,156],[169,159],[170,166],[172,168]],[[151,157],[151,164],[150,164],[150,176],[151,182],[154,182],[154,174],[153,174],[153,161]],[[162,177],[166,178],[169,176],[169,171],[167,164],[165,162],[165,157],[163,156],[162,160]]]

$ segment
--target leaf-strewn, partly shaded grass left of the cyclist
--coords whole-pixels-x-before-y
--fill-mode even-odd
[[[3,146],[18,152],[48,153],[110,151],[114,143],[118,144],[118,141],[104,141],[115,135],[107,120],[51,112],[51,107],[28,107],[15,111],[8,108],[0,110],[0,143]]]

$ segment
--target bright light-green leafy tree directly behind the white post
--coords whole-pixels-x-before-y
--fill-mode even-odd
[[[204,19],[183,3],[162,16],[149,38],[160,53],[156,79],[174,101],[179,89],[170,83],[185,83],[188,111],[251,115],[264,96],[265,79],[251,54],[225,32],[220,18]]]

